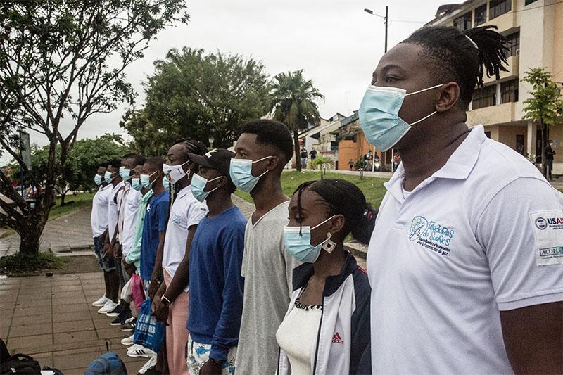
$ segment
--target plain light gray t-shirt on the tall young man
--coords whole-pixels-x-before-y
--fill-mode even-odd
[[[252,224],[246,224],[241,276],[244,277],[236,372],[274,374],[279,347],[276,331],[284,319],[292,291],[291,275],[298,262],[284,248],[289,201]]]

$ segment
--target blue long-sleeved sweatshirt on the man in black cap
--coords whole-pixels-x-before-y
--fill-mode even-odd
[[[239,343],[245,228],[246,218],[233,206],[204,217],[191,241],[186,328],[196,343],[211,344],[215,360],[226,360],[229,348]]]

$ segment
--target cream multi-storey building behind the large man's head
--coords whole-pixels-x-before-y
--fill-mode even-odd
[[[459,30],[496,25],[509,42],[508,72],[500,80],[483,77],[467,113],[467,124],[482,124],[486,134],[522,155],[541,155],[539,129],[524,120],[523,102],[531,86],[521,79],[530,68],[545,68],[555,82],[563,82],[563,2],[559,0],[469,0],[438,8],[429,25]],[[561,87],[561,84],[559,84]],[[563,120],[549,129],[553,141],[554,172],[563,173]],[[539,162],[540,160],[538,160]]]

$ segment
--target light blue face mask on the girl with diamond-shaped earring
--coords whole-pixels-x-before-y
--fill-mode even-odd
[[[320,227],[325,222],[331,220],[335,215],[332,215],[324,222],[315,225],[315,227],[284,227],[284,243],[286,245],[286,250],[293,258],[305,263],[315,263],[319,258],[322,245],[329,241],[330,236],[327,239],[319,243],[318,245],[311,245],[311,231],[317,227]],[[301,233],[300,233],[301,232]]]

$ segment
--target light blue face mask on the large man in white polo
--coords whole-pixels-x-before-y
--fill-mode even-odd
[[[398,115],[400,107],[403,106],[405,96],[419,94],[420,92],[441,86],[443,84],[436,84],[436,86],[406,94],[407,91],[397,87],[369,85],[358,110],[360,127],[367,141],[381,149],[381,151],[387,151],[395,146],[407,134],[412,125],[424,121],[436,113],[434,111],[430,115],[412,122],[412,124],[407,124]]]

